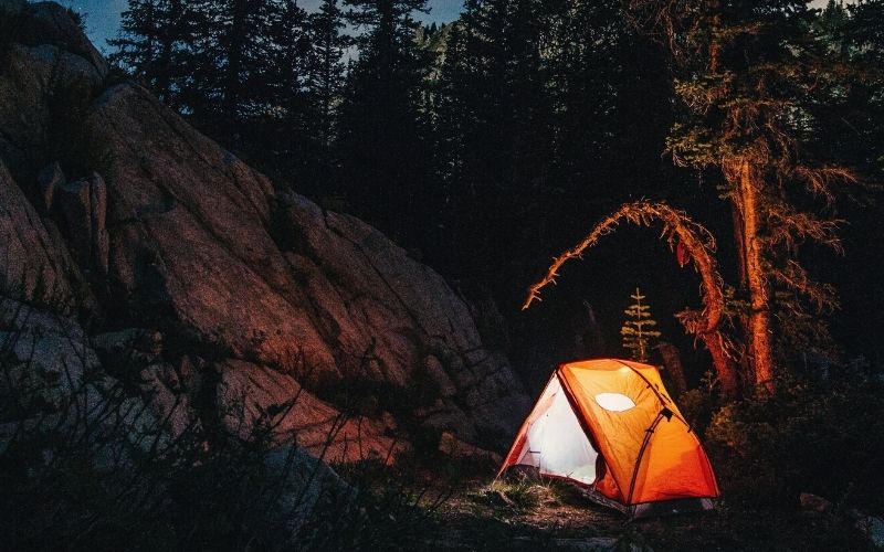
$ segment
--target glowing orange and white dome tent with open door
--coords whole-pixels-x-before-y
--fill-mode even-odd
[[[512,466],[576,482],[633,517],[712,508],[709,460],[656,368],[627,360],[561,364],[516,436]]]

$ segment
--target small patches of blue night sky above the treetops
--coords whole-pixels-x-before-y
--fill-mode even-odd
[[[98,50],[107,50],[105,41],[116,35],[119,28],[119,14],[126,9],[127,0],[56,0],[86,15],[86,32]],[[462,0],[429,0],[431,11],[420,14],[420,19],[430,23],[454,21],[463,9]],[[298,2],[306,10],[319,4],[319,0],[302,0]]]

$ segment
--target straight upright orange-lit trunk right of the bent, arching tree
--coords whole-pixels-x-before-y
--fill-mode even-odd
[[[757,385],[764,385],[774,392],[774,353],[770,328],[770,287],[767,282],[762,243],[760,236],[759,213],[761,205],[758,198],[757,176],[748,160],[739,161],[737,189],[734,200],[740,211],[741,235],[737,243],[741,245],[740,258],[744,263],[743,274],[749,291],[748,340],[749,358],[753,375]]]

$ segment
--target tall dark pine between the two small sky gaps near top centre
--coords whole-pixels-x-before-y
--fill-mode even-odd
[[[431,59],[418,47],[412,14],[425,0],[345,0],[359,34],[340,116],[343,182],[357,213],[403,241],[432,210],[424,88]]]

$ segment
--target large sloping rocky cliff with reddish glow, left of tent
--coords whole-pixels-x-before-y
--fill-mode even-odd
[[[334,434],[332,460],[443,432],[505,445],[527,397],[442,277],[275,190],[60,6],[0,0],[0,329],[29,338],[22,365],[137,374],[180,424],[248,433],[286,405],[278,437],[319,453]]]

